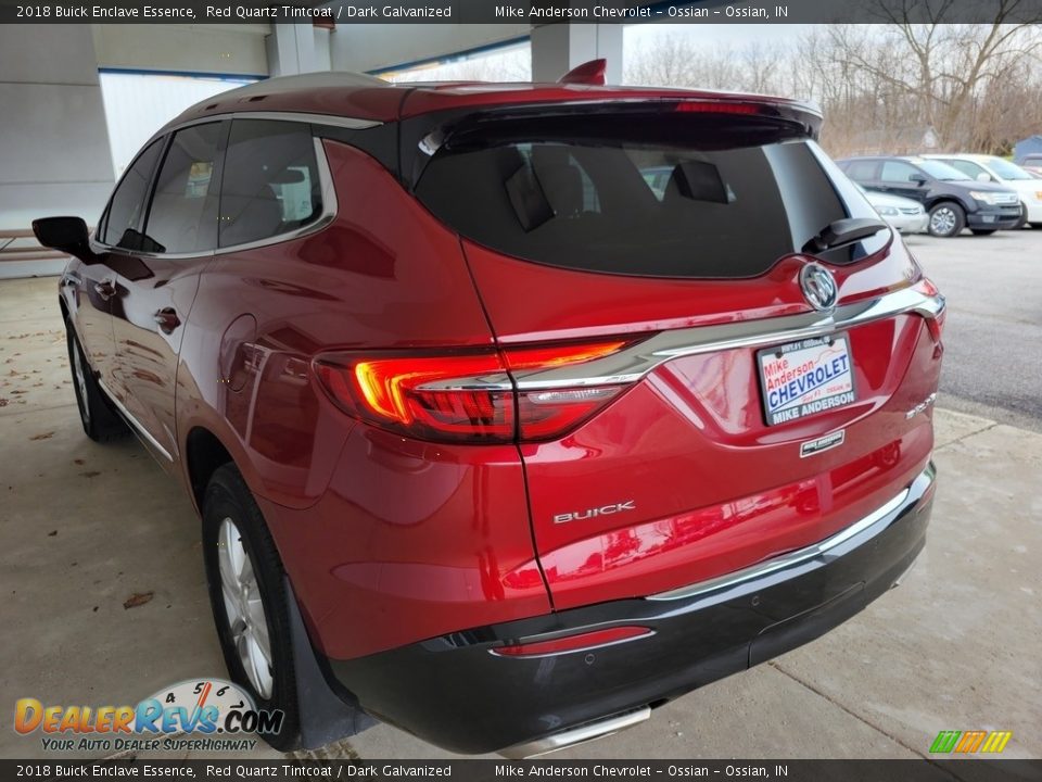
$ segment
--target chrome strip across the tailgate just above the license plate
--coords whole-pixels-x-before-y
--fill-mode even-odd
[[[519,370],[514,371],[514,378],[520,391],[626,383],[639,380],[660,364],[679,356],[823,337],[902,313],[936,318],[943,311],[944,297],[928,295],[907,287],[876,299],[840,305],[831,313],[810,312],[660,331],[650,339],[603,358],[548,369]]]

